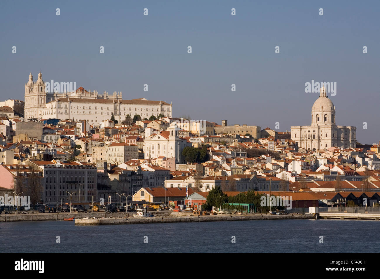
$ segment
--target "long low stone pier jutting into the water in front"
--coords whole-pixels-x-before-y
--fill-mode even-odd
[[[306,215],[214,215],[214,216],[181,216],[181,217],[145,217],[145,218],[105,218],[105,219],[75,219],[75,225],[118,225],[118,224],[154,224],[180,222],[213,222],[213,221],[253,221],[282,219],[312,219],[312,214]]]

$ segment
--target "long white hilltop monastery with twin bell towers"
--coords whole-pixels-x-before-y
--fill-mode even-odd
[[[41,72],[36,82],[33,82],[30,73],[25,84],[25,118],[74,118],[75,121],[87,120],[90,124],[99,125],[111,119],[112,113],[119,122],[122,122],[127,114],[132,118],[138,114],[141,119],[159,114],[172,117],[172,103],[148,101],[145,98],[123,100],[121,92],[114,92],[113,95],[104,92],[103,95],[99,95],[97,91],[87,91],[83,87],[60,93],[45,92],[45,88]]]

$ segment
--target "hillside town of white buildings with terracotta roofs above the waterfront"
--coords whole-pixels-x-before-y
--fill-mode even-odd
[[[195,206],[220,188],[291,196],[293,208],[379,205],[380,142],[337,126],[325,88],[312,125],[291,131],[173,117],[172,102],[121,92],[45,91],[41,72],[30,74],[25,102],[0,102],[0,196],[83,205],[123,193],[133,204]]]

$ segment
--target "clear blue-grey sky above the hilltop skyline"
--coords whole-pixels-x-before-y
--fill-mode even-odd
[[[41,69],[44,81],[172,101],[174,117],[273,129],[279,122],[285,131],[310,125],[319,94],[305,93],[305,83],[324,80],[337,83],[337,125],[378,143],[379,3],[2,1],[0,99],[24,99],[28,74],[36,80]]]

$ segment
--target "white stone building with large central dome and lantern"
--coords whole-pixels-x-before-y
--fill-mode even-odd
[[[355,148],[356,127],[337,126],[335,106],[326,95],[325,86],[311,110],[310,126],[291,126],[291,139],[298,147],[307,150],[321,150],[330,147]]]

